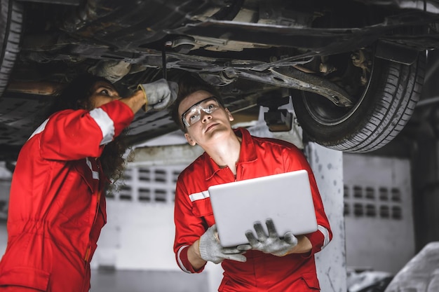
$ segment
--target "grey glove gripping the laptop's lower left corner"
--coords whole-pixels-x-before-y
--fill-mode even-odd
[[[251,246],[248,246],[250,249]],[[203,260],[212,263],[221,263],[224,259],[245,262],[247,258],[243,256],[244,250],[236,247],[222,247],[217,236],[217,226],[214,224],[208,228],[200,237],[200,254]],[[242,249],[245,249],[242,248]]]

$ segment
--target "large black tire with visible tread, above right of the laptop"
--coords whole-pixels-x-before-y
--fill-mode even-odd
[[[370,78],[358,102],[341,108],[311,92],[293,96],[304,135],[338,151],[366,153],[386,145],[412,116],[426,67],[425,53],[411,65],[374,58]]]

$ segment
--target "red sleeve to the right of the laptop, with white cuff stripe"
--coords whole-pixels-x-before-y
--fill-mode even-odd
[[[332,231],[330,223],[327,220],[325,209],[323,208],[322,198],[317,187],[316,178],[314,177],[311,166],[306,160],[304,154],[298,148],[290,148],[284,153],[285,167],[287,172],[298,169],[306,169],[309,176],[309,183],[311,185],[311,194],[313,196],[314,209],[316,211],[316,219],[318,230],[306,235],[312,244],[311,253],[307,256],[312,256],[323,247],[325,247],[332,239]]]

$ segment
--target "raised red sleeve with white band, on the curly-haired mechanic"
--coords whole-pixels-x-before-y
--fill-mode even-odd
[[[121,134],[133,118],[133,111],[119,100],[92,111],[66,110],[54,113],[45,122],[46,125],[43,124],[41,156],[48,160],[99,157],[103,146]]]

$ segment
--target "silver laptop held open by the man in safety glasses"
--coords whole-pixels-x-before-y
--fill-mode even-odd
[[[208,188],[222,246],[248,244],[247,230],[272,218],[279,236],[303,235],[317,230],[308,172],[298,170]],[[256,233],[255,233],[256,236]]]

